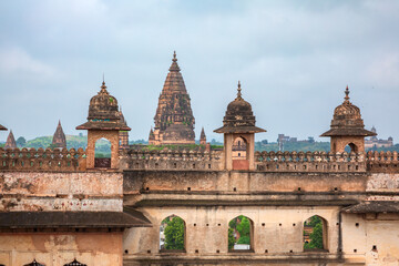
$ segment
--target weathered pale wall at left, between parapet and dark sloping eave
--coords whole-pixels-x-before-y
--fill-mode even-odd
[[[122,212],[122,174],[0,172],[0,212]]]

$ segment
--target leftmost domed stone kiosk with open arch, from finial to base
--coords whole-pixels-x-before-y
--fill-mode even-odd
[[[88,131],[88,168],[119,167],[120,131],[131,129],[121,121],[117,101],[106,91],[104,81],[100,92],[90,100],[88,122],[76,126],[76,130]],[[102,137],[111,142],[111,160],[95,158],[95,142]]]

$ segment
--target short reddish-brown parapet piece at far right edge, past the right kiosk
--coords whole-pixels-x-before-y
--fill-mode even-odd
[[[366,154],[367,171],[379,173],[399,173],[398,152],[371,152]]]

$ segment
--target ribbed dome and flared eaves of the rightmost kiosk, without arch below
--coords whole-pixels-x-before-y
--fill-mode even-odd
[[[370,136],[376,133],[365,130],[365,124],[361,119],[360,109],[349,101],[349,89],[345,90],[345,101],[334,110],[334,117],[331,120],[331,129],[325,132],[321,136],[332,135],[359,135]]]

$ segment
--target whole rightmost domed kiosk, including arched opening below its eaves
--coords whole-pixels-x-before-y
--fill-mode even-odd
[[[331,137],[331,152],[345,151],[349,145],[355,153],[365,152],[365,137],[377,135],[375,132],[365,130],[360,109],[349,102],[349,89],[345,90],[345,101],[334,111],[331,129],[320,136]]]

